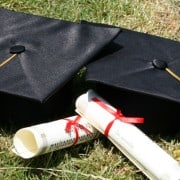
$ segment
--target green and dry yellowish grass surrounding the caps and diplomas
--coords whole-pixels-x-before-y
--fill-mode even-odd
[[[1,0],[0,7],[69,21],[107,23],[180,40],[179,0]],[[0,179],[146,179],[103,136],[23,160],[11,152],[13,133],[0,128]],[[180,162],[180,135],[151,137]]]

